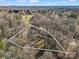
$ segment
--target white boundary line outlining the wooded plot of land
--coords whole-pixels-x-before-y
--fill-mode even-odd
[[[44,28],[39,28],[39,27],[36,27],[36,26],[34,26],[34,25],[31,25],[31,24],[30,24],[29,26],[30,26],[30,27],[34,27],[34,28],[36,28],[36,29],[38,29],[38,30],[43,30],[43,31],[47,32],[49,35],[51,35],[51,36],[54,38],[54,40],[59,44],[59,46],[63,49],[63,51],[51,50],[51,49],[42,49],[42,48],[32,48],[32,47],[24,47],[24,48],[26,48],[26,49],[34,49],[34,50],[45,50],[45,51],[51,51],[51,52],[59,52],[59,53],[67,53],[67,52],[65,51],[65,49],[61,46],[61,44],[58,42],[58,40],[55,38],[55,36],[52,35],[50,32],[48,32],[46,29],[44,29]],[[25,27],[24,29],[22,29],[21,31],[19,31],[17,34],[15,34],[15,35],[12,36],[10,39],[8,39],[8,41],[11,42],[11,43],[13,43],[13,44],[16,45],[17,47],[23,48],[22,46],[19,46],[18,44],[16,44],[16,43],[14,43],[13,41],[11,41],[11,39],[13,39],[15,36],[17,36],[17,35],[20,34],[21,32],[23,32],[25,29],[30,28],[29,26],[28,26],[28,27]]]

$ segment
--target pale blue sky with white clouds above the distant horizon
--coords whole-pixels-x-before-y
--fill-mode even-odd
[[[0,6],[79,6],[79,0],[0,0]]]

